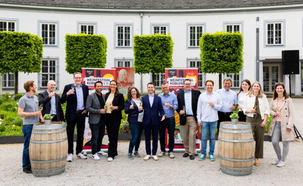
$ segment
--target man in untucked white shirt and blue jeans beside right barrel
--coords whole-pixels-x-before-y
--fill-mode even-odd
[[[199,160],[205,160],[207,138],[210,134],[210,160],[215,161],[214,150],[216,143],[216,128],[218,122],[218,110],[222,108],[221,96],[213,92],[214,82],[207,80],[205,82],[206,92],[200,94],[197,106],[198,126],[201,128],[201,157]]]

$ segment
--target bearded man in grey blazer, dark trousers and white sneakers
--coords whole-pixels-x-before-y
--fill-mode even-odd
[[[94,83],[95,93],[87,96],[86,110],[89,112],[88,123],[91,131],[91,158],[99,160],[98,153],[101,151],[102,139],[105,133],[105,96],[102,92],[102,81]],[[102,152],[100,154],[106,153]]]

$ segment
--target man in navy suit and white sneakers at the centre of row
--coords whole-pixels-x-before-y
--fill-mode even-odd
[[[158,149],[158,130],[160,121],[165,119],[165,112],[162,106],[162,101],[159,96],[157,96],[155,92],[155,84],[148,83],[147,84],[147,92],[148,94],[142,97],[143,103],[143,129],[145,134],[145,149],[146,156],[144,160],[148,160],[150,158],[150,131],[153,134],[153,159],[158,160],[156,155]],[[159,113],[162,117],[159,117]]]

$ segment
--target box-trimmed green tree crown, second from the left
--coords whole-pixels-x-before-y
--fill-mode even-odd
[[[66,72],[82,72],[82,68],[105,68],[107,39],[104,35],[66,34]]]

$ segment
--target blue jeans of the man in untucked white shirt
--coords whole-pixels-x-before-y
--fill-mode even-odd
[[[210,134],[210,152],[209,155],[214,155],[216,143],[216,129],[218,121],[205,122],[202,121],[201,127],[201,154],[206,156],[207,138]]]

